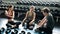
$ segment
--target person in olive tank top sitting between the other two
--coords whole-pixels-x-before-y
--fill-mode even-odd
[[[27,23],[27,28],[29,29],[29,25],[32,25],[33,22],[35,21],[36,13],[35,11],[35,6],[31,6],[30,10],[27,11],[25,18],[23,19],[23,23]]]

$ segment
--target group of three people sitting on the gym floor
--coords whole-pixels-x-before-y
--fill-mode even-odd
[[[8,6],[8,9],[5,11],[5,15],[8,18],[8,24],[11,25],[11,27],[15,27],[16,24],[13,23],[13,19],[15,16],[15,12],[13,10],[13,6]],[[27,23],[27,29],[29,29],[29,25],[33,24],[36,18],[35,6],[31,6],[29,8],[30,10],[26,12],[25,18],[23,19],[22,23]],[[44,18],[39,21],[37,24],[37,28],[39,30],[43,30],[46,34],[52,34],[52,30],[54,28],[54,19],[53,15],[50,13],[50,9],[48,7],[45,7],[41,9],[42,14],[44,15]]]

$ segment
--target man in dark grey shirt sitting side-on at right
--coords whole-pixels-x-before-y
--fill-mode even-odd
[[[44,31],[44,34],[52,34],[54,28],[53,15],[50,13],[50,9],[45,7],[41,10],[44,18],[39,22],[38,27],[40,31]]]

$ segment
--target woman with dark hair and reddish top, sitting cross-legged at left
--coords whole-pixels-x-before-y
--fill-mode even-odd
[[[14,7],[12,5],[9,5],[8,9],[5,10],[5,15],[8,18],[8,23],[6,25],[7,25],[7,27],[9,26],[12,28],[16,26],[13,22],[14,16],[15,16],[15,12],[14,12],[13,8]]]

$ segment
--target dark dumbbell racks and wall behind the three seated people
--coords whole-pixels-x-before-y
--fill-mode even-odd
[[[54,16],[55,26],[60,27],[60,0],[0,0],[0,18],[4,17],[4,11],[9,5],[14,6],[15,18],[16,20],[23,20],[25,13],[29,10],[31,5],[34,5],[35,12],[37,14],[35,22],[43,18],[41,9],[43,7],[49,7],[51,13]]]

